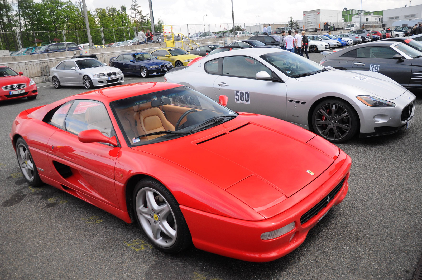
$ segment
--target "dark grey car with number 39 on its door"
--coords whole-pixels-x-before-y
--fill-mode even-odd
[[[320,64],[341,70],[377,72],[406,88],[422,88],[422,52],[400,42],[382,40],[352,46],[328,54]]]

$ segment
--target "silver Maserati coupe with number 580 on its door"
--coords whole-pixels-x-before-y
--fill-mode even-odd
[[[333,143],[386,135],[413,121],[416,97],[379,73],[323,67],[289,51],[226,51],[165,74],[227,107],[280,118]],[[197,100],[189,100],[195,106]]]

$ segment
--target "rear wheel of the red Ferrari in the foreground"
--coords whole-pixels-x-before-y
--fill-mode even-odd
[[[16,141],[16,157],[18,159],[19,167],[25,180],[33,187],[38,187],[42,184],[40,175],[38,175],[37,167],[32,158],[31,152],[27,143],[22,137]]]

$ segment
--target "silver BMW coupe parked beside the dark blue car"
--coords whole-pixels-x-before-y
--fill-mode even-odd
[[[123,83],[123,74],[118,68],[84,57],[64,60],[51,68],[50,81],[56,89],[61,86],[84,86],[92,89],[94,86]]]

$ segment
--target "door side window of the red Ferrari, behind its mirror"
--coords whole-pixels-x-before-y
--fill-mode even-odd
[[[106,106],[95,100],[76,100],[69,110],[65,129],[74,134],[87,129],[98,129],[111,137],[113,127]]]

